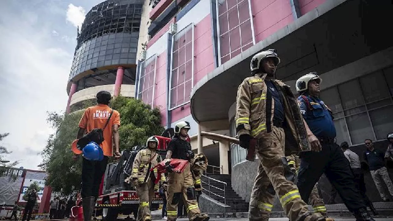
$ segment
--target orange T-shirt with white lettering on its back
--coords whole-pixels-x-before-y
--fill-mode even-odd
[[[99,104],[93,107],[88,107],[79,121],[79,127],[82,129],[86,129],[87,132],[92,131],[95,128],[104,128],[105,123],[109,118],[110,112],[112,109],[108,105]],[[105,127],[104,141],[100,145],[103,149],[104,155],[108,157],[113,156],[112,150],[112,126],[113,125],[120,126],[120,114],[117,110],[113,110],[113,114],[110,117],[107,127]]]

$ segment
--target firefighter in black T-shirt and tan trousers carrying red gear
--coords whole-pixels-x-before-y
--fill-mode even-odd
[[[175,135],[167,147],[166,162],[170,162],[171,158],[182,160],[191,160],[194,158],[191,145],[186,141],[190,128],[190,124],[186,121],[176,123],[174,128]],[[209,220],[209,216],[207,214],[201,214],[199,210],[190,163],[185,166],[182,173],[169,172],[168,174],[168,220],[176,220],[176,208],[180,200],[183,200],[186,206],[190,221]]]

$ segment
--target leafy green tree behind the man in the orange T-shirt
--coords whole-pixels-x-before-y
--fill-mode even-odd
[[[149,136],[163,131],[160,110],[151,109],[140,100],[119,96],[111,101],[110,106],[120,113],[120,151],[144,145]],[[48,122],[56,129],[56,134],[50,136],[42,151],[42,169],[48,173],[46,184],[55,192],[68,195],[81,187],[82,159],[72,160],[71,143],[76,138],[83,112],[48,113]]]

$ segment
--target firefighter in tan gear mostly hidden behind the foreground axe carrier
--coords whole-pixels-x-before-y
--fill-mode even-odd
[[[287,156],[286,159],[288,160],[288,166],[292,170],[292,172],[298,174],[299,168],[300,168],[299,155],[291,154],[291,155]],[[319,212],[324,217],[327,217],[327,210],[326,210],[325,202],[323,202],[323,199],[320,197],[319,192],[318,192],[318,183],[316,183],[314,188],[312,188],[312,191],[311,191],[310,197],[309,197],[309,204],[312,205],[312,210],[314,210],[314,212]]]

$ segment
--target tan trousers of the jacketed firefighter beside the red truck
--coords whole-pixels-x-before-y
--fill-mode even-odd
[[[139,197],[137,221],[151,220],[150,204],[154,197],[154,179],[149,177],[147,182],[139,184],[136,187],[136,193]]]

